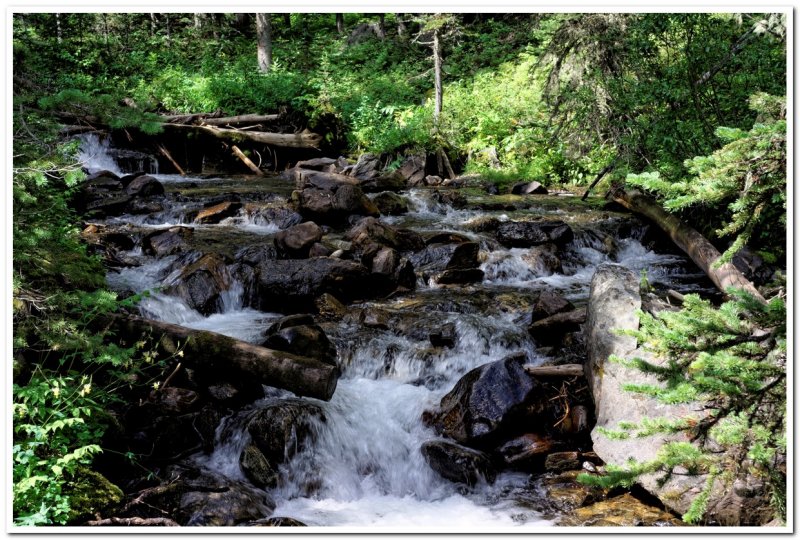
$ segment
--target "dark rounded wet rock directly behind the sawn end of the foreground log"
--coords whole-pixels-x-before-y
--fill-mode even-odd
[[[263,346],[336,365],[336,347],[309,315],[284,317],[274,323],[267,330]]]

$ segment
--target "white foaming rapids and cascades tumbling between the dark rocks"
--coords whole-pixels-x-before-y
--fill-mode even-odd
[[[113,160],[106,159],[107,150],[96,138],[87,139],[83,154],[87,165],[121,174],[115,170]],[[216,181],[171,175],[158,178],[167,183]],[[426,230],[463,230],[464,222],[484,214],[454,210],[433,201],[425,190],[412,190],[408,196],[411,213],[387,221],[410,220]],[[161,213],[122,216],[109,222],[142,228],[187,224],[185,216],[202,202],[173,202]],[[508,220],[500,212],[492,215]],[[260,235],[278,230],[277,225],[258,215],[243,214],[202,227]],[[485,279],[478,287],[488,288],[490,293],[495,290],[492,287],[519,295],[552,287],[572,300],[585,301],[598,264],[617,262],[637,273],[646,269],[651,282],[669,285],[680,273],[677,267],[682,261],[680,257],[647,250],[635,238],[615,239],[614,249],[609,249],[598,237],[576,234],[562,261],[563,272],[551,273],[531,257],[529,249],[505,249],[493,240],[474,234],[470,237],[479,240],[486,252],[481,266]],[[176,267],[177,256],[155,259],[144,256],[138,248],[129,255],[141,264],[109,272],[108,283],[121,291],[150,291],[140,304],[141,312],[148,317],[252,343],[263,340],[265,329],[280,317],[244,307],[241,285],[230,276],[231,286],[222,294],[219,313],[204,316],[162,290],[181,270],[180,265]],[[423,292],[434,300],[436,294],[446,294],[425,288],[417,295]],[[380,305],[387,310],[403,310],[399,302],[385,301]],[[520,351],[527,355],[528,362],[542,360],[522,320],[524,315],[511,308],[492,313],[446,308],[417,312],[420,320],[428,317],[434,327],[454,325],[456,342],[452,348],[432,349],[426,333],[420,336],[398,328],[365,332],[360,325],[342,323],[329,331],[331,339],[340,345],[338,360],[343,374],[330,402],[309,400],[322,408],[326,421],[315,424],[313,444],[301,448],[280,466],[279,487],[270,493],[277,503],[274,515],[312,526],[377,527],[387,531],[533,531],[551,525],[524,500],[513,496],[516,491],[527,489],[528,475],[503,473],[492,485],[479,483],[466,488],[440,477],[420,452],[424,442],[437,438],[423,423],[423,412],[435,408],[467,371]],[[234,415],[223,421],[215,450],[195,456],[195,462],[232,479],[245,480],[239,455],[249,435],[240,420]]]

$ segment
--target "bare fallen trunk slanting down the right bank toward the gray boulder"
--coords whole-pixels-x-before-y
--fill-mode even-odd
[[[720,252],[702,234],[689,227],[676,216],[670,214],[660,204],[637,190],[618,189],[612,192],[614,201],[623,205],[632,212],[641,214],[666,232],[675,245],[705,272],[714,285],[723,293],[735,287],[744,289],[762,302],[764,297],[741,272],[731,263],[715,267],[714,263],[720,258]]]

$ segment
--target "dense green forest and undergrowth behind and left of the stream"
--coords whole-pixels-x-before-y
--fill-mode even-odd
[[[104,409],[152,378],[98,330],[120,302],[78,237],[64,125],[280,113],[389,169],[422,151],[501,189],[627,179],[785,265],[786,46],[780,14],[14,14],[15,519],[82,516]]]

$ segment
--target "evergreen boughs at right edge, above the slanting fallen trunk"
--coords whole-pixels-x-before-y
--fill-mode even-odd
[[[664,198],[664,208],[722,211],[716,234],[733,238],[719,263],[728,262],[748,242],[782,252],[786,237],[786,109],[784,98],[754,94],[758,114],[750,131],[718,128],[726,144],[709,156],[686,161],[690,176],[667,181],[658,172],[629,175],[628,183]]]

